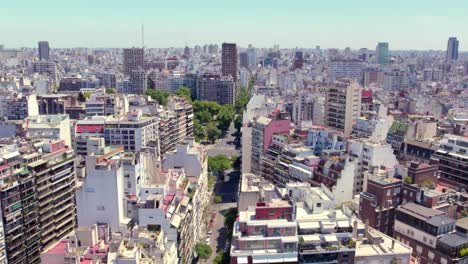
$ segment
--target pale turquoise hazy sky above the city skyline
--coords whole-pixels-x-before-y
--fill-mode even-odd
[[[468,50],[467,0],[1,0],[0,43],[33,47],[193,46]]]

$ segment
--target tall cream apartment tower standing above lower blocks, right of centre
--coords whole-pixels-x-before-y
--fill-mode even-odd
[[[353,125],[361,114],[361,86],[352,79],[342,79],[328,87],[325,103],[327,126],[351,135]]]

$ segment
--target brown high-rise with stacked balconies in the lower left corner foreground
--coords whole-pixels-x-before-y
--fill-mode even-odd
[[[2,263],[40,263],[75,226],[73,151],[61,140],[21,144],[0,149]]]

